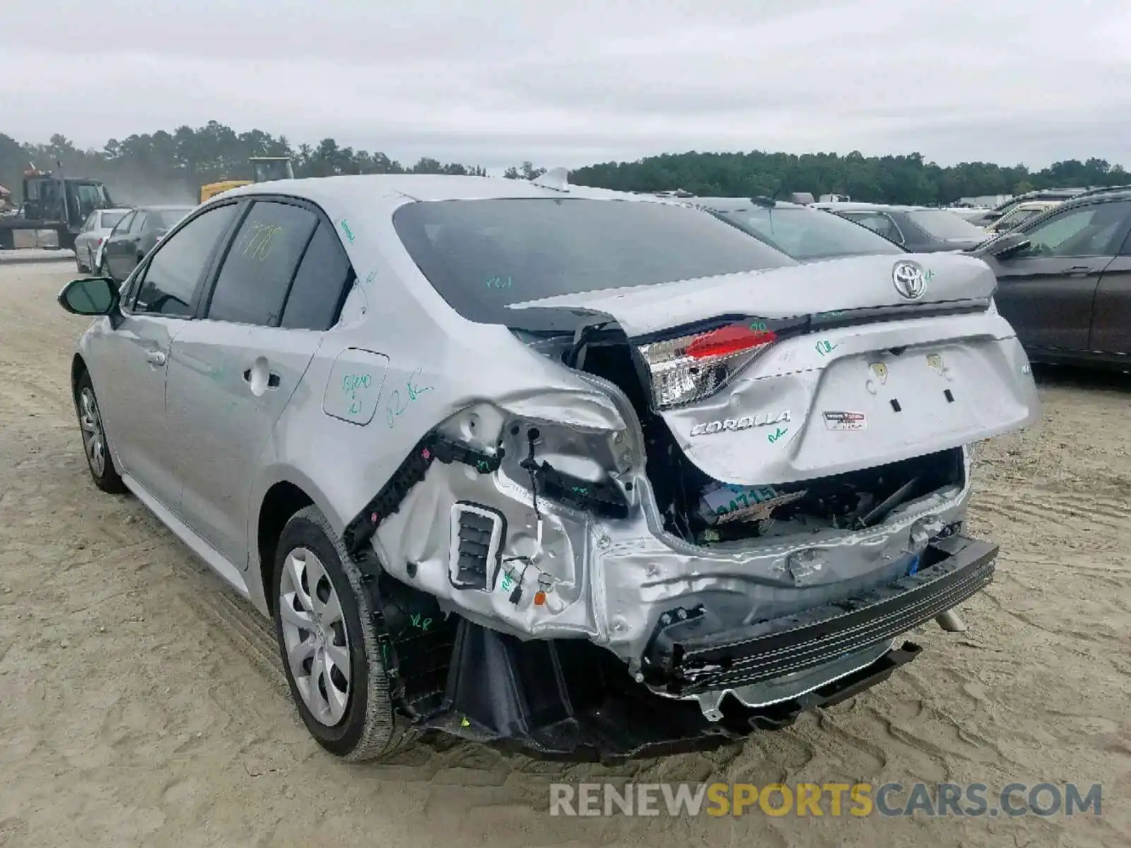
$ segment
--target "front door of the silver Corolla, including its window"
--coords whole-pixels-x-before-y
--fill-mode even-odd
[[[95,388],[121,470],[170,510],[181,493],[165,418],[170,346],[195,323],[205,271],[234,213],[234,205],[205,211],[154,253],[131,280],[123,320],[92,357],[101,365]]]

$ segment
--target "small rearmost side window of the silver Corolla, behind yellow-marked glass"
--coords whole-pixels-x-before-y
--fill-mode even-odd
[[[353,268],[334,230],[320,223],[294,275],[280,327],[328,330],[337,319]]]

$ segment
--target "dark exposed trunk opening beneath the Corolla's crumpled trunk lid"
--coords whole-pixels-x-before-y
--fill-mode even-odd
[[[651,412],[628,340],[602,335],[606,338],[573,345],[563,358],[615,383],[631,400],[665,529],[685,542],[711,545],[826,528],[864,529],[881,525],[903,503],[964,482],[962,451],[952,448],[801,483],[729,486],[688,460],[663,418]]]

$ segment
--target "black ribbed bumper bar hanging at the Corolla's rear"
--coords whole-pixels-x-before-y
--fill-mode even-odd
[[[924,551],[914,574],[860,597],[734,630],[701,632],[706,620],[689,611],[687,618],[656,629],[645,652],[645,682],[687,698],[836,665],[981,591],[993,580],[998,551],[965,536],[940,539]]]

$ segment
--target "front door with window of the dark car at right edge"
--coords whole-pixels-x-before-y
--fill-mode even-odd
[[[1091,315],[1100,275],[1126,234],[1126,201],[1060,209],[1022,224],[1029,246],[986,261],[998,276],[999,311],[1021,344],[1052,355],[1089,349]]]

